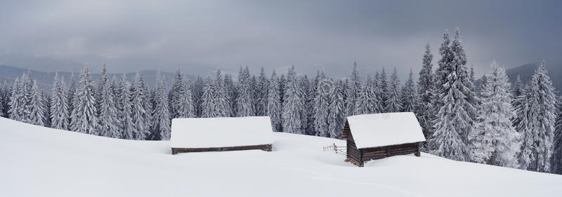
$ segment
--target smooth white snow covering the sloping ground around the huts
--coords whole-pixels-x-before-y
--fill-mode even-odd
[[[171,155],[169,142],[117,140],[0,118],[0,196],[560,196],[562,176],[429,154],[365,168],[275,133],[274,151]]]

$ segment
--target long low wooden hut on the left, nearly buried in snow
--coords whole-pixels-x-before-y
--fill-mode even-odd
[[[174,118],[172,154],[202,151],[271,151],[273,129],[268,116],[236,118]]]

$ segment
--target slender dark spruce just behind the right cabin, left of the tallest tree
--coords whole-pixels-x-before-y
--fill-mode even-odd
[[[421,70],[419,71],[419,78],[417,79],[417,97],[418,101],[415,107],[415,113],[419,124],[424,132],[424,136],[428,139],[433,130],[431,121],[435,118],[433,113],[433,104],[431,99],[433,97],[433,54],[429,43],[426,44],[426,51],[421,61]],[[424,149],[428,147],[424,144]]]

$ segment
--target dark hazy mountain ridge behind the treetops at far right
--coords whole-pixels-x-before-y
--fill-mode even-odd
[[[507,69],[506,73],[511,85],[515,84],[517,76],[521,77],[523,84],[529,83],[532,74],[535,74],[535,69],[537,69],[539,65],[540,63],[528,63],[519,67]],[[552,85],[556,88],[556,93],[559,95],[562,90],[562,64],[547,63],[546,67],[549,72],[550,79],[552,80]]]

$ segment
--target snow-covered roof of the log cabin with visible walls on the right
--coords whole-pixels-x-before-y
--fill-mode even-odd
[[[426,141],[412,112],[349,116],[347,121],[358,149]]]

